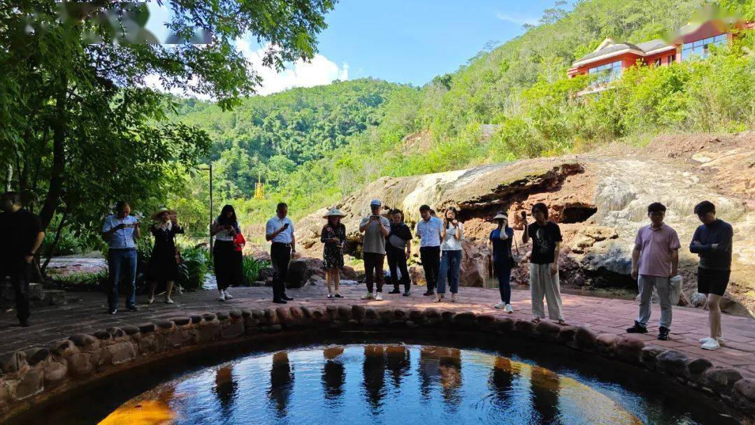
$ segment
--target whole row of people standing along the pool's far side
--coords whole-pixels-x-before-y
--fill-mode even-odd
[[[371,214],[359,224],[363,233],[362,257],[365,263],[365,284],[367,293],[364,300],[383,300],[384,260],[387,257],[393,291],[399,294],[403,285],[403,295],[408,296],[410,279],[407,260],[411,256],[412,233],[404,222],[404,214],[398,209],[390,210],[389,216],[381,214],[382,204],[374,199],[370,203]],[[17,316],[20,324],[29,325],[29,265],[39,253],[45,233],[39,217],[22,207],[16,192],[5,192],[0,196],[0,235],[5,242],[0,244],[0,279],[10,276],[16,297]],[[522,243],[532,239],[532,254],[529,258],[529,285],[532,299],[533,321],[545,318],[544,299],[547,300],[548,318],[565,325],[559,288],[559,252],[562,235],[559,225],[548,220],[548,208],[543,203],[532,205],[532,223],[522,211]],[[419,209],[414,232],[420,241],[420,258],[427,281],[425,296],[433,296],[437,302],[445,297],[446,284],[451,292],[451,302],[457,299],[459,275],[462,260],[464,224],[458,220],[458,211],[447,208],[442,218],[436,217],[428,205]],[[732,263],[733,229],[729,223],[716,218],[716,207],[711,202],[700,202],[694,213],[701,221],[690,242],[689,250],[700,257],[698,264],[698,292],[707,297],[710,336],[700,340],[705,350],[716,350],[726,344],[721,333],[720,300],[729,283]],[[639,229],[632,251],[633,279],[639,289],[639,314],[629,333],[646,333],[651,316],[653,288],[658,292],[661,303],[661,321],[658,339],[669,338],[672,306],[671,292],[679,269],[678,250],[681,247],[676,231],[664,223],[666,207],[659,202],[648,206],[650,224]],[[341,298],[339,283],[341,269],[344,268],[344,247],[347,244],[347,230],[341,218],[344,214],[331,208],[323,218],[322,241],[325,276],[328,298]],[[149,232],[155,245],[149,260],[147,280],[152,282],[148,303],[153,303],[156,287],[165,284],[165,303],[173,303],[171,291],[178,279],[180,252],[175,244],[175,236],[183,233],[177,222],[177,212],[160,208],[151,218]],[[512,269],[519,266],[521,256],[513,254],[516,246],[513,229],[509,226],[507,214],[498,212],[493,217],[496,228],[488,236],[492,248],[493,266],[498,276],[501,302],[496,308],[513,313],[511,306],[510,277]],[[219,300],[233,298],[228,292],[231,285],[242,284],[242,248],[245,244],[236,212],[231,205],[225,205],[220,215],[211,225],[215,238],[213,250],[214,272],[217,278]],[[135,241],[140,238],[140,223],[131,215],[128,202],[119,202],[115,213],[105,218],[102,236],[108,242],[107,263],[109,285],[107,299],[109,313],[118,311],[119,285],[128,285],[125,301],[127,310],[136,311],[136,269],[137,250]],[[267,221],[266,239],[271,242],[270,257],[273,262],[273,302],[286,303],[293,298],[285,294],[285,279],[288,264],[296,255],[294,224],[288,218],[288,205],[281,202],[276,208],[276,216]],[[331,284],[333,286],[331,286]]]

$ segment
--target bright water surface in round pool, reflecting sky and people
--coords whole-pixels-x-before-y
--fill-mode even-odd
[[[570,375],[455,348],[328,346],[188,374],[101,423],[704,423],[618,385]]]

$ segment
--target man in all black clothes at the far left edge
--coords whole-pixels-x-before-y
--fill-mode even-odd
[[[29,264],[45,233],[39,217],[21,208],[17,192],[0,196],[0,281],[10,276],[21,326],[29,326]]]

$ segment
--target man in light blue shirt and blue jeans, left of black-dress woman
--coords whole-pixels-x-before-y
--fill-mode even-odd
[[[107,304],[110,314],[118,312],[118,285],[122,279],[128,279],[129,294],[126,298],[126,310],[137,311],[137,249],[135,239],[141,237],[139,220],[131,214],[128,202],[116,204],[116,214],[105,218],[102,236],[108,243],[107,265],[109,268],[110,288],[107,291]]]

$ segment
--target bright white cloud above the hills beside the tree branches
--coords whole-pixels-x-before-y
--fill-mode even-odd
[[[294,63],[288,63],[286,69],[277,72],[276,69],[264,66],[262,63],[265,51],[271,48],[270,44],[252,50],[245,39],[238,39],[236,47],[249,61],[251,69],[254,69],[262,78],[262,85],[257,88],[259,94],[276,93],[292,87],[326,85],[333,80],[349,79],[348,63],[338,66],[322,54],[315,54],[309,62],[297,60]]]

